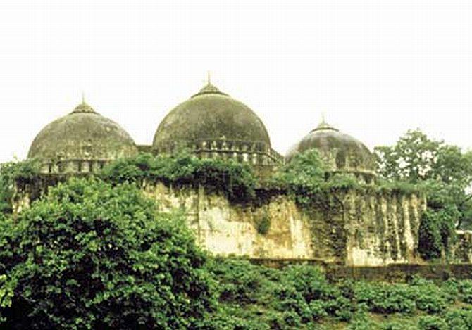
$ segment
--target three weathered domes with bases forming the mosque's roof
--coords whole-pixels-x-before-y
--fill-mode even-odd
[[[97,172],[111,160],[139,151],[176,153],[187,148],[201,158],[233,159],[271,168],[311,148],[320,151],[332,172],[350,172],[366,182],[375,177],[373,156],[360,141],[323,122],[284,158],[271,146],[262,120],[244,103],[211,84],[175,106],[161,121],[150,146],[137,146],[116,122],[82,98],[71,113],[46,125],[32,141],[28,158],[38,158],[42,173]]]

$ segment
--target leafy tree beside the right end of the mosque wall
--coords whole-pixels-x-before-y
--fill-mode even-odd
[[[426,192],[428,212],[420,226],[419,249],[425,258],[440,257],[454,238],[454,225],[470,222],[472,153],[410,130],[394,146],[375,148],[381,177],[418,184]]]

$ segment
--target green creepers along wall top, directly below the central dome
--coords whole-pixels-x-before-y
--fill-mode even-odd
[[[247,164],[220,158],[197,158],[186,151],[173,156],[141,153],[107,165],[100,177],[108,182],[159,180],[167,184],[204,186],[225,193],[230,201],[249,201],[254,197],[256,176]]]

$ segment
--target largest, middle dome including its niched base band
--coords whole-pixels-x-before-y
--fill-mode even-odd
[[[166,115],[154,134],[157,153],[182,146],[205,158],[233,158],[254,165],[280,160],[259,117],[210,82]]]

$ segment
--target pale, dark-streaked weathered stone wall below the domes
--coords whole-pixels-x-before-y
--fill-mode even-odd
[[[426,203],[415,195],[337,193],[340,208],[299,208],[280,194],[259,205],[235,205],[203,188],[145,182],[161,210],[180,208],[201,246],[218,255],[300,258],[356,266],[417,262],[418,226]],[[268,221],[265,233],[259,224]]]

